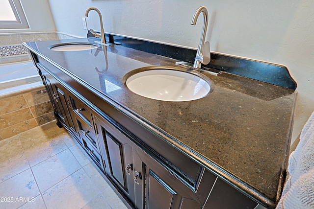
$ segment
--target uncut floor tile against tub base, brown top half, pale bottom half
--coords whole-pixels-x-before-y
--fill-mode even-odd
[[[38,126],[18,136],[21,139],[30,166],[67,149],[62,137],[58,135],[51,123]]]

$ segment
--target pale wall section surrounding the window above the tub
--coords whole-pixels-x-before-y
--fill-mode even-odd
[[[55,31],[55,25],[48,0],[20,0],[26,13],[29,28],[1,29],[0,33],[27,33]]]

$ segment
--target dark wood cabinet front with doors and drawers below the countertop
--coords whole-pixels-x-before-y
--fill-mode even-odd
[[[122,125],[131,121],[128,116],[115,108],[106,113],[48,67],[38,64],[38,69],[58,124],[78,140],[130,208],[254,209],[258,205],[145,128],[130,128],[136,127],[135,122]],[[97,100],[97,104],[100,101],[105,102]]]

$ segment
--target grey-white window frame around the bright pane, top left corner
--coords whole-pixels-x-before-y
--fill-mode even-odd
[[[15,15],[16,21],[1,21],[0,29],[24,29],[29,28],[26,20],[25,12],[23,10],[20,0],[8,0],[12,11]]]

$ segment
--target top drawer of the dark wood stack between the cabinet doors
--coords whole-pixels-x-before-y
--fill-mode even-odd
[[[83,103],[79,102],[78,99],[71,97],[72,109],[75,115],[79,116],[82,120],[85,121],[90,127],[92,127],[93,119],[90,109]]]

